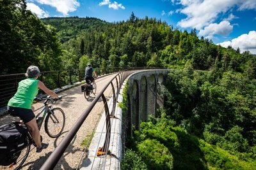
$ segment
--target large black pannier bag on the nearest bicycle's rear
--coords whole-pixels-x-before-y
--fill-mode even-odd
[[[12,124],[0,126],[0,165],[8,166],[15,162],[21,150],[28,145],[26,136],[28,130]]]

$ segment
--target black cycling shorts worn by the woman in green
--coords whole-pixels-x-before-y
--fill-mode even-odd
[[[7,106],[7,111],[13,117],[20,117],[20,119],[23,120],[24,123],[28,123],[33,118],[35,118],[34,112],[29,109]]]

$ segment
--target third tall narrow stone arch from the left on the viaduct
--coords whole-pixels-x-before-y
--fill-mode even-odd
[[[156,77],[154,74],[148,78],[148,114],[156,115]]]

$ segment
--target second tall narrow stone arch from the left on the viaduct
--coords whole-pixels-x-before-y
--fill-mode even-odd
[[[147,92],[147,79],[145,76],[142,76],[140,81],[140,120],[144,122],[148,120]]]

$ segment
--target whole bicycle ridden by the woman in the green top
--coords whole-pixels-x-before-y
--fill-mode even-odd
[[[44,101],[44,108],[36,115],[36,123],[38,124],[38,129],[40,131],[42,124],[45,120],[44,128],[45,132],[48,134],[51,138],[57,138],[61,135],[61,132],[64,129],[65,126],[65,113],[61,108],[51,108],[52,106],[49,106],[50,103],[54,103],[58,101],[59,99],[52,99],[50,96],[44,97],[35,97],[35,101]],[[42,117],[40,117],[40,115]],[[13,122],[13,124],[22,126],[27,129],[26,125],[22,122]],[[41,141],[42,141],[42,136]],[[14,162],[10,164],[10,168],[14,168],[15,170],[20,169],[20,167],[24,164],[26,159],[28,158],[28,154],[30,152],[31,145],[36,147],[35,142],[33,141],[33,138],[31,136],[31,131],[28,129],[28,135],[25,137],[24,147],[17,151],[17,153],[14,153],[13,155],[17,157],[15,158]]]

